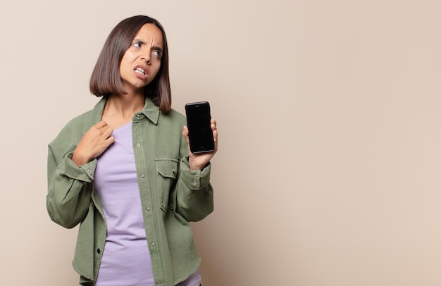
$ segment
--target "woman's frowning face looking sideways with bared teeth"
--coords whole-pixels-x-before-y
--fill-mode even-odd
[[[154,24],[144,24],[123,56],[120,76],[128,93],[142,92],[161,68],[162,32]]]

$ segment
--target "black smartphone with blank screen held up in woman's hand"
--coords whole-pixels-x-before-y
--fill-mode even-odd
[[[211,130],[210,104],[207,101],[185,104],[188,137],[192,153],[214,150],[213,130]]]

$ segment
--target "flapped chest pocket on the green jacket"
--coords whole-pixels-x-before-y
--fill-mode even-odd
[[[156,158],[156,182],[158,184],[159,203],[161,209],[167,211],[168,198],[170,197],[171,189],[175,185],[175,180],[178,177],[179,160],[173,158]]]

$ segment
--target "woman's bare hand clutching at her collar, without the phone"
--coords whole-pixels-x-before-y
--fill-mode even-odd
[[[72,161],[77,166],[81,166],[97,158],[115,142],[115,137],[111,136],[112,132],[113,129],[107,125],[106,121],[101,120],[93,125],[73,151]]]

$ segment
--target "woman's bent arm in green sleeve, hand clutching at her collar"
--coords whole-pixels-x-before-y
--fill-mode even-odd
[[[71,129],[63,130],[52,142],[53,146],[49,145],[46,207],[51,219],[59,225],[73,228],[87,216],[96,158],[115,141],[112,132],[106,122],[100,121],[82,135],[75,147],[70,144],[78,135],[73,136]],[[66,149],[74,151],[65,155]]]

